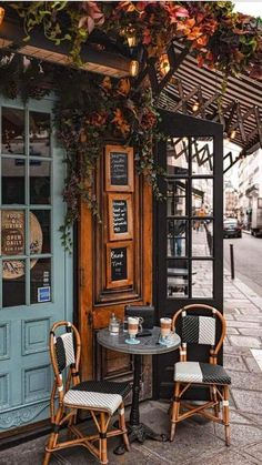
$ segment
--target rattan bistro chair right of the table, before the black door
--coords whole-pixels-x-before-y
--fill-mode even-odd
[[[204,316],[200,315],[203,312]],[[178,326],[181,330],[180,362],[174,364],[170,441],[174,438],[177,423],[198,414],[224,425],[225,444],[230,445],[229,385],[231,380],[225,370],[216,364],[225,336],[225,320],[216,309],[210,305],[192,304],[179,310],[173,316],[172,330]],[[219,335],[218,326],[221,330]],[[188,361],[188,344],[196,345],[194,357],[198,355],[198,345],[210,345],[209,363]],[[184,394],[187,395],[188,388],[192,385],[209,387],[210,401],[201,405],[185,401]],[[222,403],[222,412],[220,412],[220,403]]]

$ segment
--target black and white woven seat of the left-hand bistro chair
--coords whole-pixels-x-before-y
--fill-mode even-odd
[[[84,381],[67,392],[63,403],[67,406],[84,406],[90,410],[105,411],[112,415],[129,391],[129,383]]]

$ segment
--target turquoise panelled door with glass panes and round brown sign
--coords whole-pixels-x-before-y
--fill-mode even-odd
[[[0,100],[0,434],[49,417],[49,330],[72,319],[52,99]]]

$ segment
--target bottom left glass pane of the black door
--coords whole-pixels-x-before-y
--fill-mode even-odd
[[[188,261],[170,261],[168,264],[168,297],[189,296],[189,271]]]

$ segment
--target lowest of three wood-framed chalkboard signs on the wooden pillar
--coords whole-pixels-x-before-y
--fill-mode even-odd
[[[133,284],[132,242],[107,244],[107,287],[123,287]]]

